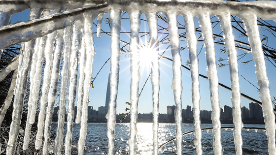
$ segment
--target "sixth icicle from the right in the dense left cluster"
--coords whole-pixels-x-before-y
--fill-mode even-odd
[[[37,122],[37,133],[35,139],[35,149],[40,149],[42,145],[42,136],[44,131],[45,124],[45,109],[46,103],[48,101],[48,92],[50,89],[51,82],[51,72],[53,67],[53,51],[54,51],[54,41],[55,41],[56,31],[47,35],[46,45],[45,45],[45,68],[44,68],[44,77],[43,85],[41,88],[42,96],[39,100],[40,110],[38,115]]]

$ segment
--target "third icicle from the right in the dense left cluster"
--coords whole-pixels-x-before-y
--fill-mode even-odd
[[[74,106],[75,106],[77,74],[78,74],[78,47],[80,44],[81,24],[82,23],[80,20],[77,20],[74,22],[72,26],[72,42],[70,42],[70,39],[65,39],[65,44],[68,44],[68,46],[72,44],[70,68],[69,68],[70,83],[69,83],[69,94],[68,94],[67,134],[65,137],[66,155],[71,155],[72,127],[73,127],[73,119],[74,119]]]

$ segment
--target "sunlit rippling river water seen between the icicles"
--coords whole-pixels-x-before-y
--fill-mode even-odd
[[[79,130],[79,124],[74,124],[74,128]],[[222,124],[222,126],[233,126],[233,124]],[[105,123],[88,123],[88,131],[86,138],[86,148],[84,155],[106,155],[107,154],[107,136]],[[212,127],[212,124],[202,124],[202,128]],[[263,124],[244,124],[244,127],[261,127]],[[152,123],[138,123],[137,134],[137,155],[151,155],[152,142]],[[128,139],[129,139],[129,124],[116,124],[115,130],[115,155],[128,154]],[[182,124],[182,132],[193,130],[193,124]],[[174,138],[175,124],[159,124],[159,145]],[[243,139],[243,155],[268,155],[267,136],[262,130],[250,129],[249,131],[242,130]],[[194,134],[183,136],[182,154],[195,155]],[[202,133],[203,155],[213,155],[212,150],[212,130],[206,130]],[[235,145],[233,131],[228,129],[221,130],[221,141],[223,148],[223,155],[235,155]],[[175,155],[176,146],[175,141],[165,145],[159,150],[160,155]],[[76,155],[72,153],[72,155]]]

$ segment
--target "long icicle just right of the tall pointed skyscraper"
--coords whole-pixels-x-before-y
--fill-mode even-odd
[[[109,13],[111,22],[111,58],[110,58],[110,99],[107,112],[107,137],[108,155],[114,155],[114,134],[116,123],[117,94],[120,70],[120,31],[121,31],[121,9],[112,7]]]

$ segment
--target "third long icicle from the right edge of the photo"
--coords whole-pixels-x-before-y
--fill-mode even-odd
[[[213,150],[215,155],[222,155],[221,146],[221,123],[220,117],[220,104],[218,94],[218,74],[216,69],[215,60],[215,47],[213,40],[213,31],[210,23],[210,15],[208,12],[199,15],[199,23],[201,25],[202,34],[204,37],[204,44],[206,47],[206,60],[207,60],[207,75],[209,78],[210,99],[212,104],[211,120],[213,123]]]

